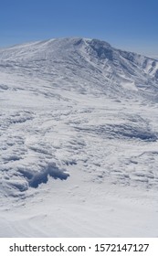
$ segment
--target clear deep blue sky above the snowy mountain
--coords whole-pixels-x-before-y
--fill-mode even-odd
[[[0,47],[53,37],[158,56],[158,0],[0,0]]]

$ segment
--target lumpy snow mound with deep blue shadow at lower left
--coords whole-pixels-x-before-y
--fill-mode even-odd
[[[15,159],[9,160],[15,161]],[[54,179],[66,180],[69,174],[66,169],[59,169],[55,163],[49,163],[45,168],[41,168],[40,171],[21,166],[17,167],[15,171],[7,170],[5,172],[4,178],[0,181],[0,191],[1,193],[5,191],[5,196],[24,196],[23,192],[26,192],[29,187],[37,188],[41,183],[47,183],[48,176]]]

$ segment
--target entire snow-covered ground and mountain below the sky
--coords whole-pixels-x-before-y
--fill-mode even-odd
[[[158,60],[86,38],[0,50],[0,237],[158,237]]]

